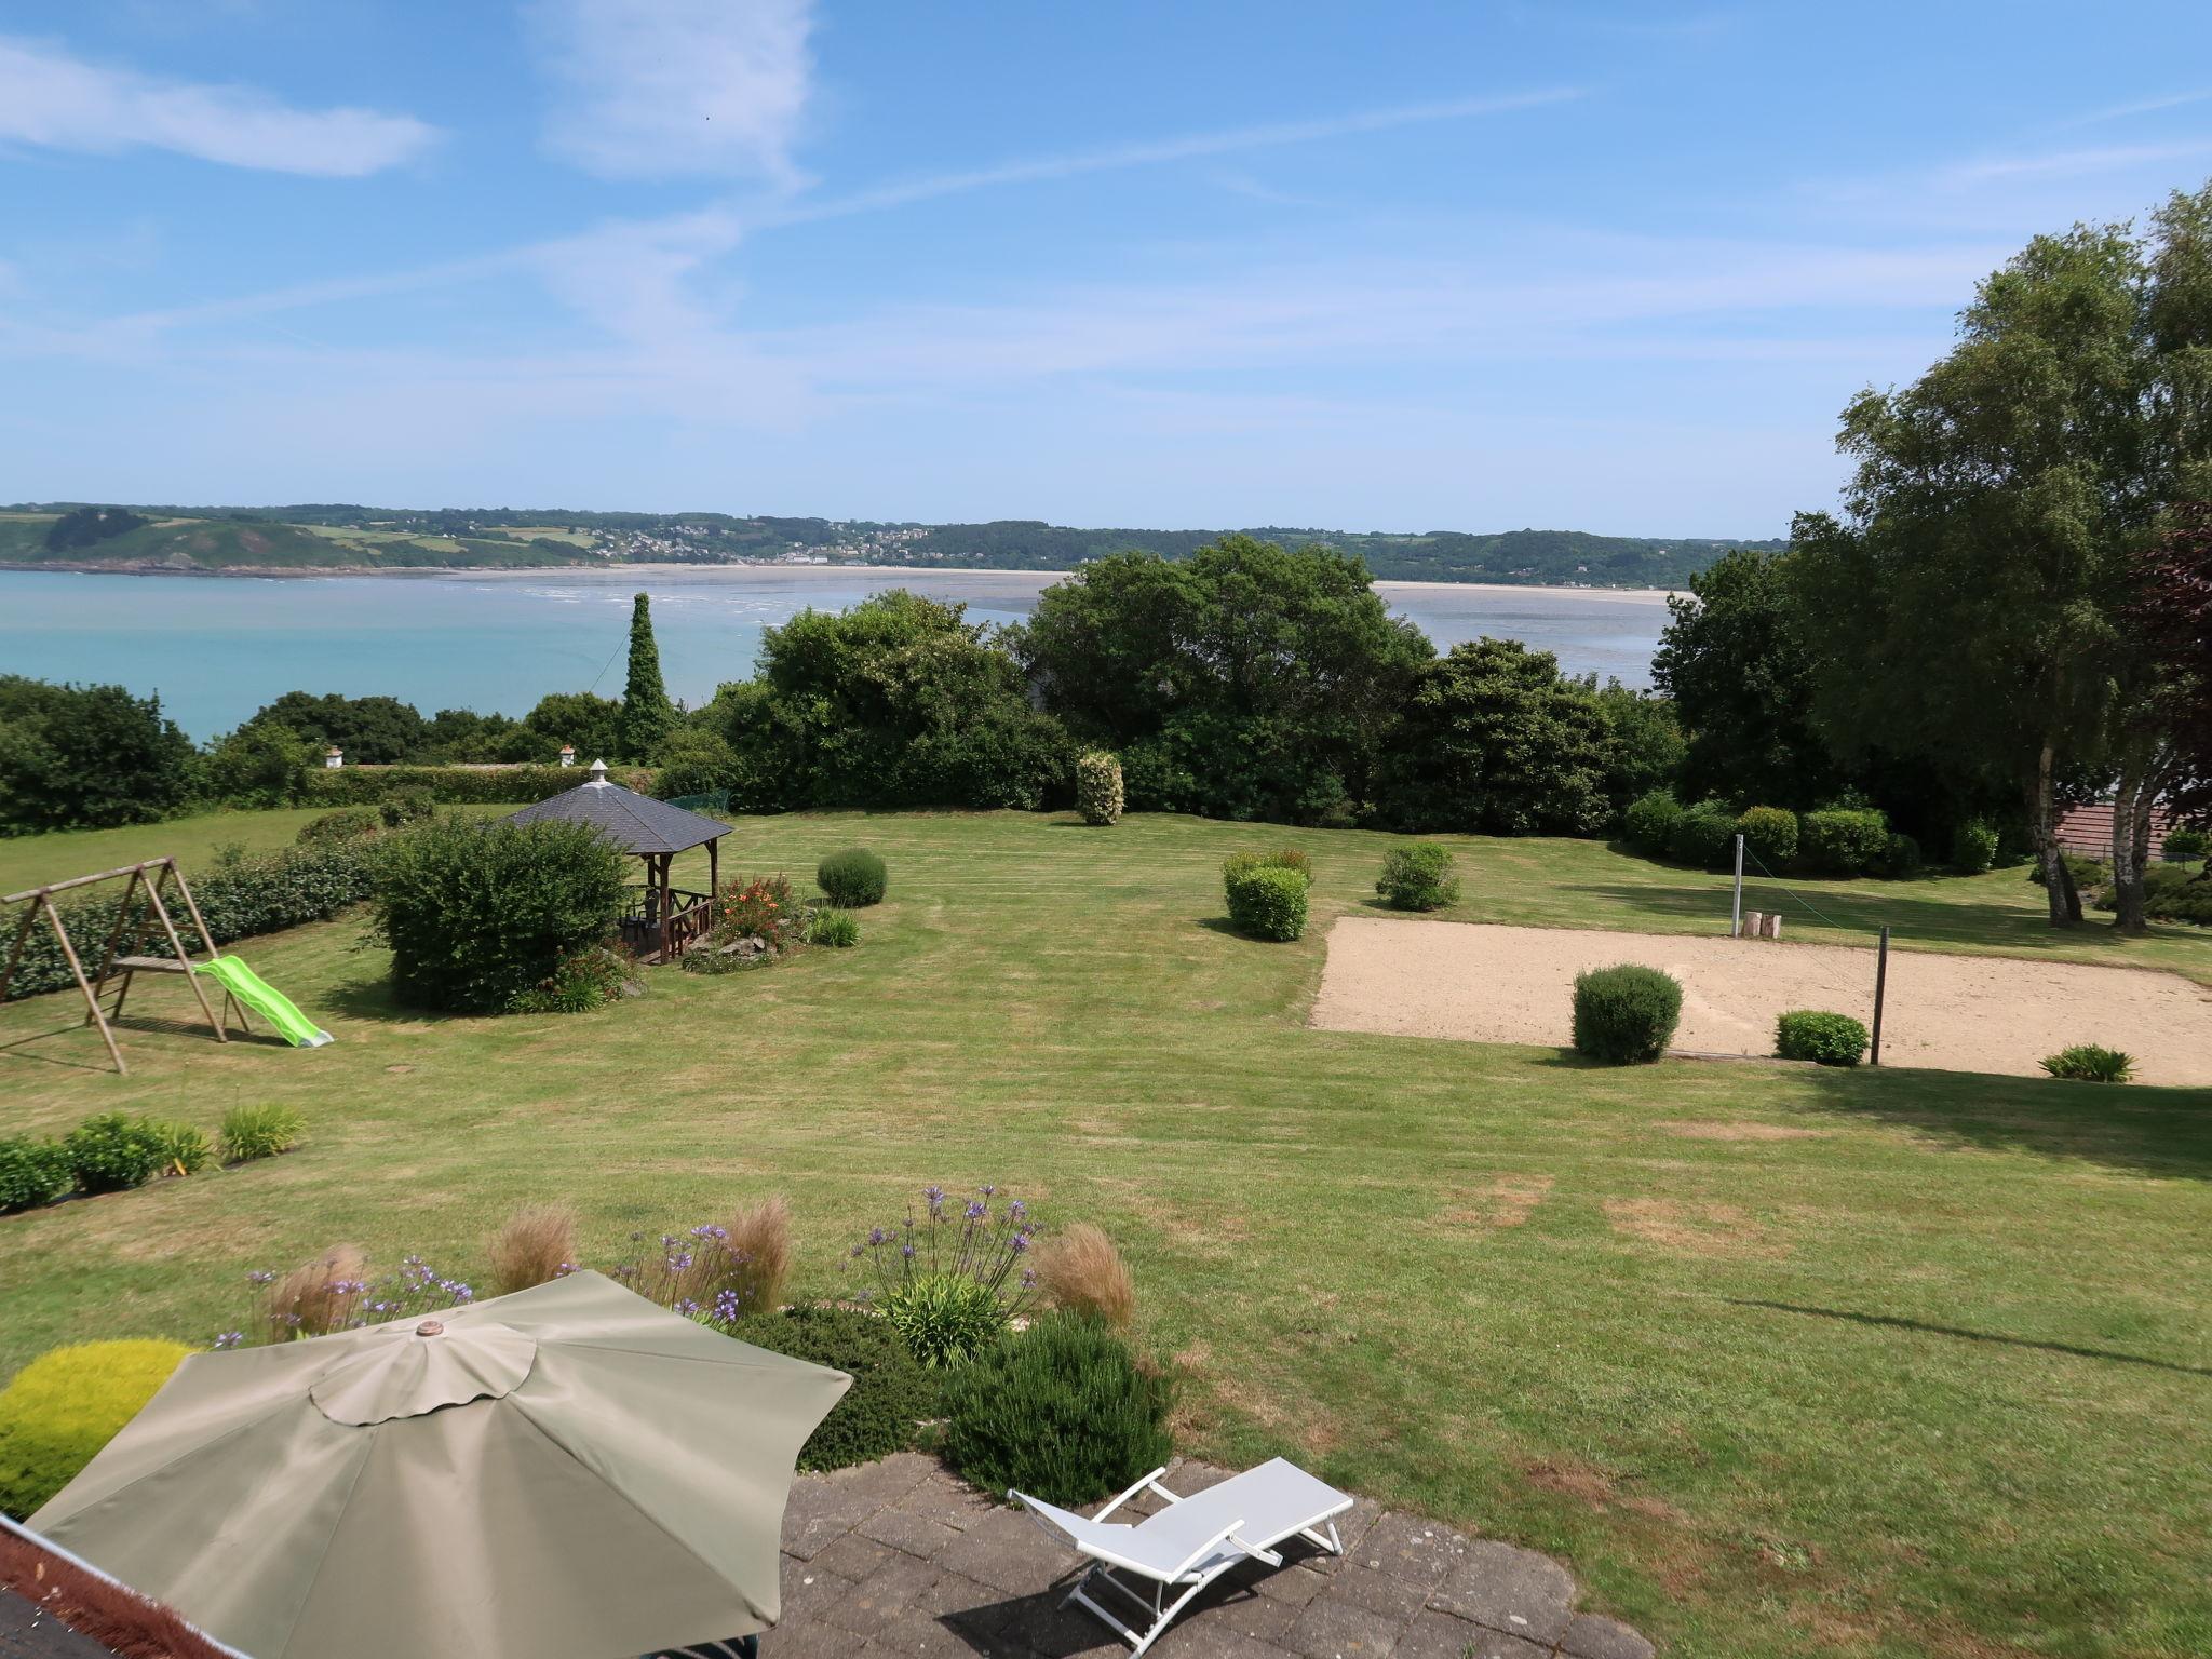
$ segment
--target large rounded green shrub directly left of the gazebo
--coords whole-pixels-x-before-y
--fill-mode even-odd
[[[376,933],[403,1002],[507,1013],[562,964],[606,945],[624,860],[584,823],[440,818],[376,858]]]

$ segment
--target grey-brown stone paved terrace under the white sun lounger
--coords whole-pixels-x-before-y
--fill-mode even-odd
[[[1177,1464],[1181,1493],[1223,1480]],[[1462,1537],[1365,1498],[1340,1515],[1345,1557],[1283,1546],[1192,1601],[1161,1659],[1650,1659],[1624,1624],[1575,1613],[1548,1555]],[[1303,1551],[1303,1553],[1301,1553]],[[1077,1557],[1029,1515],[993,1504],[933,1458],[900,1453],[801,1475],[783,1515],[783,1624],[761,1659],[1108,1659],[1128,1655],[1082,1608],[1062,1608]]]

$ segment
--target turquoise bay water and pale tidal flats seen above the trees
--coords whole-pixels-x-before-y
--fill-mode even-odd
[[[524,714],[555,690],[622,695],[633,593],[653,595],[668,692],[701,703],[752,672],[761,628],[909,586],[1020,622],[1057,575],[717,566],[500,575],[184,577],[0,571],[0,672],[159,692],[195,739],[288,690]],[[1438,648],[1495,635],[1573,672],[1650,681],[1657,595],[1383,582]]]

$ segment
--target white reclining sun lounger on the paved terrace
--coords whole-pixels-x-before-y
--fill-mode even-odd
[[[1190,1604],[1190,1597],[1239,1562],[1281,1566],[1283,1557],[1274,1546],[1294,1533],[1332,1555],[1345,1553],[1336,1540],[1336,1517],[1352,1509],[1352,1500],[1314,1480],[1294,1462],[1274,1458],[1190,1498],[1177,1498],[1161,1486],[1164,1473],[1166,1469],[1155,1469],[1106,1504],[1097,1520],[1071,1515],[1026,1493],[1006,1493],[1011,1502],[1035,1515],[1040,1526],[1091,1557],[1091,1568],[1066,1593],[1062,1606],[1082,1601],[1135,1652],[1150,1648],[1168,1621]],[[1168,1506],[1157,1515],[1146,1515],[1135,1526],[1106,1520],[1141,1491],[1152,1491]],[[1316,1531],[1321,1526],[1327,1526],[1327,1537]],[[1150,1593],[1124,1584],[1117,1573],[1144,1579]],[[1119,1590],[1139,1613],[1150,1615],[1150,1626],[1137,1630],[1102,1608],[1091,1599],[1093,1584]],[[1175,1590],[1181,1595],[1170,1601],[1168,1595]]]

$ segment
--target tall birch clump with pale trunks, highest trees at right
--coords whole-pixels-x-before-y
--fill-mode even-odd
[[[2212,493],[2212,190],[2152,237],[2077,226],[1989,276],[1960,343],[1843,418],[1845,520],[1801,515],[1792,582],[1814,721],[1840,752],[1927,754],[2011,781],[2055,927],[2068,776],[2119,779],[2115,880],[2159,748],[2159,677],[2128,608],[2166,504]]]

